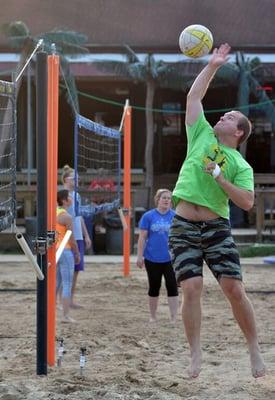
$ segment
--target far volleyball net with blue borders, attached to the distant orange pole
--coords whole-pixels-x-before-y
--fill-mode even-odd
[[[74,127],[74,169],[78,215],[93,217],[119,208],[120,160],[120,132],[77,114]]]

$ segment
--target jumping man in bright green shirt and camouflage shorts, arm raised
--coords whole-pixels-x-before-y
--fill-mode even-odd
[[[251,133],[250,121],[239,111],[224,114],[212,128],[203,113],[202,99],[216,71],[227,62],[230,46],[215,49],[187,96],[187,155],[173,200],[176,216],[169,246],[178,284],[183,290],[182,317],[190,346],[189,375],[201,369],[201,293],[203,260],[229,300],[248,343],[252,375],[265,375],[255,316],[248,299],[239,254],[229,223],[230,199],[243,210],[254,203],[253,170],[237,151]]]

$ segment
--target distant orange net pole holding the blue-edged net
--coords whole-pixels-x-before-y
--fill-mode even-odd
[[[127,229],[123,230],[123,273],[130,273],[131,248],[131,124],[132,107],[127,107],[124,119],[124,179],[123,179],[123,207],[128,212],[125,215]]]

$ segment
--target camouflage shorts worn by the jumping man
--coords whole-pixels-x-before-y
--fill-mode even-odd
[[[239,253],[227,219],[188,221],[176,215],[169,232],[172,263],[179,282],[203,276],[203,261],[217,280],[242,280]]]

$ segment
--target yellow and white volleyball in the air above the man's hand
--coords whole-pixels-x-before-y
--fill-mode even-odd
[[[179,46],[187,57],[203,57],[212,49],[212,33],[203,25],[189,25],[180,34]]]

